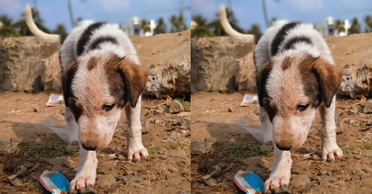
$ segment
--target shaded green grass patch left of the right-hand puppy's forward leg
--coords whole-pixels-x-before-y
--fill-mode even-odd
[[[243,159],[251,158],[254,156],[270,157],[273,152],[260,150],[260,143],[251,143],[247,139],[238,140],[234,143],[215,143],[213,145],[213,155],[225,161],[230,162],[242,162]]]

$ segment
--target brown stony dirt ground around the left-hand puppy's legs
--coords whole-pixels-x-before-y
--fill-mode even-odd
[[[38,181],[44,170],[61,172],[69,181],[74,178],[78,151],[65,148],[57,135],[36,125],[49,116],[64,122],[64,104],[46,107],[48,98],[45,93],[0,94],[0,140],[12,138],[19,142],[15,153],[0,156],[0,193],[49,193]],[[112,142],[97,152],[97,193],[191,192],[190,129],[174,125],[180,117],[189,117],[190,112],[170,114],[167,106],[161,105],[164,112],[154,115],[155,106],[164,101],[142,101],[142,113],[150,129],[142,135],[142,142],[150,157],[140,162],[125,158],[126,119],[122,113]],[[107,156],[113,153],[118,154]],[[16,173],[16,181],[9,180]]]

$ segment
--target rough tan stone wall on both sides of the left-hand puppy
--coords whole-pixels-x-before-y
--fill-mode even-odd
[[[190,30],[130,38],[149,71],[144,96],[190,96]],[[61,93],[60,46],[34,36],[0,39],[0,91]]]

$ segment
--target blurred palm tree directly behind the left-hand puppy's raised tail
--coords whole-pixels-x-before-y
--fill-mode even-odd
[[[44,21],[40,18],[39,12],[31,8],[31,13],[36,26],[38,26],[38,28],[43,32],[50,33],[49,29],[43,25]],[[25,13],[22,13],[21,15],[25,17]],[[28,29],[28,26],[26,24],[26,19],[18,20],[16,23],[14,23],[14,26],[15,28],[19,29],[19,33],[21,36],[32,35],[31,31]]]

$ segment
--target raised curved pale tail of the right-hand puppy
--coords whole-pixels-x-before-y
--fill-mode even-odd
[[[219,6],[219,19],[221,21],[222,28],[224,28],[225,32],[232,38],[241,42],[255,42],[254,35],[239,33],[231,27],[229,21],[227,20],[226,8],[224,4]]]

